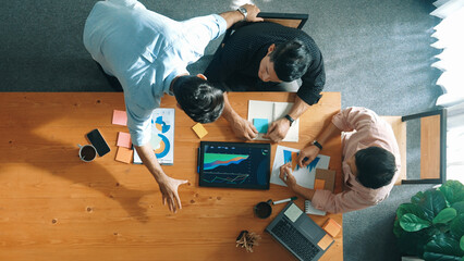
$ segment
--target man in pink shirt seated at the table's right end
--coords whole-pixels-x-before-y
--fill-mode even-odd
[[[326,141],[342,136],[343,191],[308,189],[296,184],[291,162],[280,167],[280,178],[294,192],[312,201],[316,209],[344,213],[365,209],[384,200],[400,175],[400,151],[391,126],[374,111],[351,107],[340,111],[298,156],[306,166]]]

